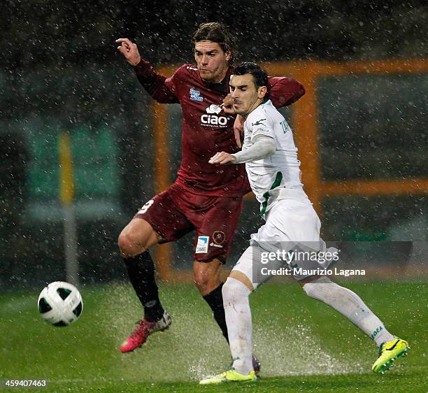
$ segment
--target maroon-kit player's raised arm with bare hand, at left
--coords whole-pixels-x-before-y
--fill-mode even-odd
[[[134,67],[138,81],[152,99],[159,103],[178,103],[178,99],[173,93],[171,78],[166,79],[166,76],[157,73],[149,62],[143,60],[135,43],[128,38],[119,38],[116,43],[120,43],[117,50]]]

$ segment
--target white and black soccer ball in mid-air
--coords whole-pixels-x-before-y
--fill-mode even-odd
[[[68,326],[76,322],[83,310],[80,292],[64,281],[55,281],[43,288],[37,305],[43,320],[54,326]]]

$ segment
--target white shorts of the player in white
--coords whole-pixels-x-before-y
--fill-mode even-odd
[[[276,201],[266,215],[266,223],[251,235],[250,247],[243,252],[241,258],[234,266],[234,271],[241,271],[247,276],[254,287],[264,283],[273,274],[261,274],[263,268],[277,270],[292,266],[292,276],[297,280],[303,280],[316,269],[325,269],[327,264],[320,264],[318,259],[294,259],[290,265],[285,259],[269,259],[266,255],[278,250],[299,249],[302,252],[311,252],[313,255],[319,251],[325,251],[325,243],[320,238],[321,223],[317,213],[313,209],[311,201],[297,199],[280,199]],[[303,269],[303,271],[302,271]],[[264,269],[266,271],[266,269]]]

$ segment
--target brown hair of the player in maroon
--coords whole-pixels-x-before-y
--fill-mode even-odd
[[[220,22],[205,22],[199,24],[197,31],[192,36],[192,45],[199,41],[212,41],[218,43],[223,52],[231,53],[229,64],[234,62],[235,38],[229,32],[225,24]]]

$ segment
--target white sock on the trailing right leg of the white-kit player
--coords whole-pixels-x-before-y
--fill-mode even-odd
[[[394,336],[387,331],[380,319],[372,313],[357,294],[348,288],[333,283],[327,277],[307,283],[303,288],[308,296],[323,301],[347,317],[350,322],[374,340],[376,345],[394,340]]]

